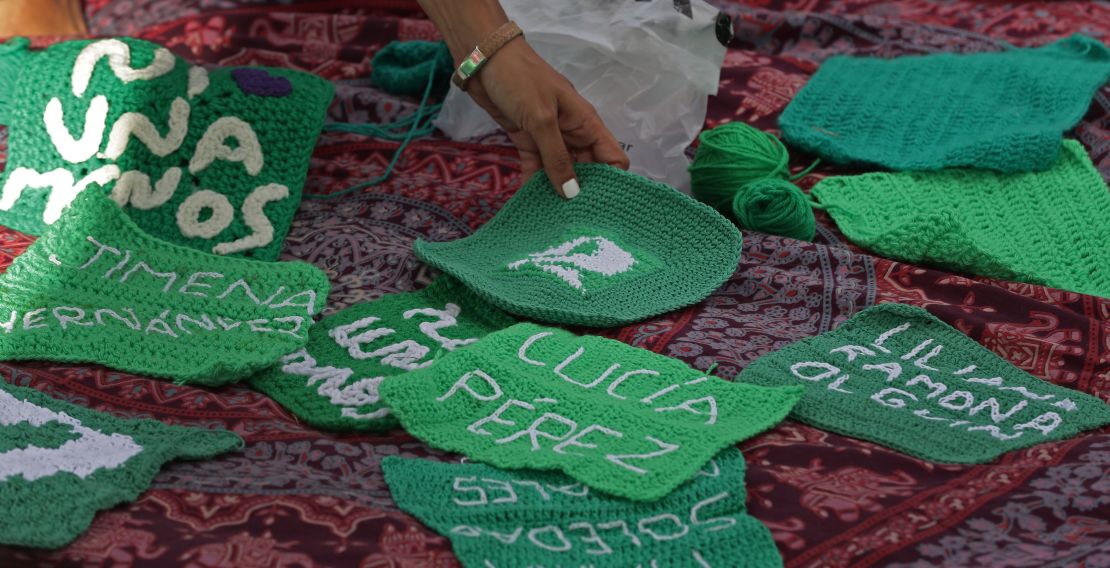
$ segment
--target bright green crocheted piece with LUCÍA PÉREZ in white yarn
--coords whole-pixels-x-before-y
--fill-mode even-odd
[[[801,388],[737,385],[613,339],[517,324],[386,378],[381,395],[433,447],[654,500],[778,424]]]

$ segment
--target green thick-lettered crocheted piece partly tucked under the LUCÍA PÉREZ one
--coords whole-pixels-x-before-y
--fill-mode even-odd
[[[382,381],[432,365],[442,353],[513,325],[450,276],[418,292],[389,294],[320,321],[309,344],[251,378],[251,386],[317,428],[387,430]]]

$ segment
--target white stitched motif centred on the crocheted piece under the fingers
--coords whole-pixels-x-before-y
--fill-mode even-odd
[[[573,253],[575,248],[587,244],[595,246],[592,253]],[[636,264],[636,258],[604,236],[579,236],[546,251],[532,253],[527,258],[512,262],[508,268],[518,270],[526,264],[549,272],[575,290],[585,292],[582,285],[583,271],[614,276],[628,272]]]

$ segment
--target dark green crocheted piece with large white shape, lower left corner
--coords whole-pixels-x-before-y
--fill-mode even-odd
[[[229,430],[120,419],[0,381],[0,545],[62,547],[164,463],[242,445]]]

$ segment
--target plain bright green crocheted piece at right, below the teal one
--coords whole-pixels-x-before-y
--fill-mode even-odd
[[[869,173],[813,195],[884,256],[1110,297],[1110,192],[1073,140],[1045,172]]]

